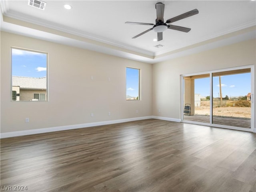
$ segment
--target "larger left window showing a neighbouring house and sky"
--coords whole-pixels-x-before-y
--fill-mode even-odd
[[[47,101],[48,54],[11,48],[11,56],[12,101]]]

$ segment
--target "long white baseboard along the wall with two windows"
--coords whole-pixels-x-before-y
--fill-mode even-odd
[[[144,117],[135,117],[135,118],[128,118],[128,119],[111,120],[111,121],[84,123],[84,124],[77,124],[77,125],[68,125],[68,126],[42,128],[42,129],[7,132],[7,133],[1,133],[0,138],[9,138],[9,137],[17,137],[17,136],[24,136],[24,135],[39,134],[39,133],[48,133],[48,132],[54,132],[54,131],[79,129],[79,128],[86,128],[86,127],[93,127],[93,126],[100,126],[100,125],[108,125],[108,124],[116,124],[116,123],[124,123],[124,122],[144,120],[144,119],[152,119],[152,118],[153,118],[152,116],[144,116]]]

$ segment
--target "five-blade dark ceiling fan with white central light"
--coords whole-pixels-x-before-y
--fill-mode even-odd
[[[134,36],[132,39],[135,39],[151,30],[154,32],[157,32],[157,41],[161,41],[163,39],[163,31],[166,29],[173,29],[173,30],[178,30],[182,32],[189,32],[191,29],[186,28],[186,27],[181,27],[181,26],[176,26],[176,25],[168,25],[169,23],[193,16],[198,14],[198,10],[194,9],[189,12],[186,12],[184,14],[181,14],[179,16],[176,16],[174,18],[166,20],[164,23],[164,4],[163,3],[156,3],[156,24],[154,25],[153,23],[139,23],[139,22],[125,22],[126,24],[136,24],[136,25],[154,25],[152,28]]]

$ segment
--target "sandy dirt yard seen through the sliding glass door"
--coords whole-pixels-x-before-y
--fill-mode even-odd
[[[210,107],[201,107],[200,109],[195,109],[195,114],[210,115]],[[213,115],[251,118],[251,108],[250,107],[217,107],[217,108],[213,108]]]

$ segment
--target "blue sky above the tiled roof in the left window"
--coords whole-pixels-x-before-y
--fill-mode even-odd
[[[12,76],[45,77],[47,55],[12,49]]]

